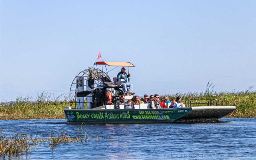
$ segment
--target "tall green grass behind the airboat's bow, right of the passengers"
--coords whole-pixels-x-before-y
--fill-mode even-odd
[[[201,92],[188,92],[169,94],[169,98],[181,96],[182,99],[214,99],[218,106],[236,106],[237,109],[226,117],[256,117],[256,91],[253,86],[244,91],[217,92],[215,86],[210,81],[205,90]],[[208,101],[208,100],[207,100]],[[201,102],[201,101],[194,101]],[[206,101],[203,101],[206,102]]]

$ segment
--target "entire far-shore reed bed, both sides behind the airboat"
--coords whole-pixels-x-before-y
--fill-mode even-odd
[[[207,83],[205,90],[201,92],[188,92],[169,94],[169,98],[181,96],[194,100],[193,103],[214,99],[219,106],[236,106],[237,109],[226,117],[256,117],[256,91],[249,87],[245,91],[217,92],[214,85]],[[63,98],[64,97],[64,98]],[[61,101],[60,99],[63,98]],[[63,109],[69,106],[68,97],[64,94],[55,97],[48,93],[38,94],[35,101],[32,98],[17,97],[14,102],[7,102],[8,107],[0,107],[0,119],[60,119],[65,118]]]

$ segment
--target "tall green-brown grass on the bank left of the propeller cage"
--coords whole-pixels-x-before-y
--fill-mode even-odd
[[[64,96],[64,100],[60,98]],[[69,106],[67,97],[38,94],[35,101],[30,96],[18,96],[8,107],[0,107],[0,119],[59,119],[65,118],[63,108]]]

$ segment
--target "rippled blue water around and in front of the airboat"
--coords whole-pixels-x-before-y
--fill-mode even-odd
[[[89,136],[83,144],[32,147],[31,155],[16,159],[256,159],[256,119],[222,118],[222,123],[85,125]],[[6,136],[29,132],[39,138],[54,133],[77,135],[79,125],[65,119],[0,120]],[[108,137],[115,140],[110,141]]]

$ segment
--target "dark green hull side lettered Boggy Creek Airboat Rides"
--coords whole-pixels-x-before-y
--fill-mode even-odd
[[[170,109],[64,109],[68,123],[168,123],[192,108]]]

